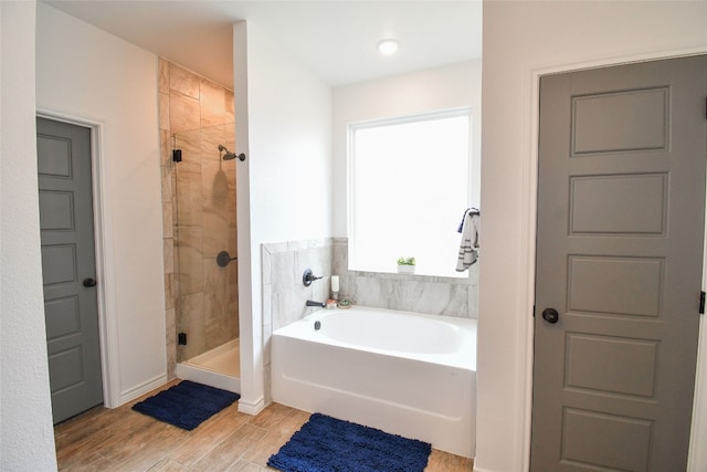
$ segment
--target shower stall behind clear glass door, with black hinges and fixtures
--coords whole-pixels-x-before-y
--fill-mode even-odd
[[[175,374],[240,391],[233,123],[173,133]]]

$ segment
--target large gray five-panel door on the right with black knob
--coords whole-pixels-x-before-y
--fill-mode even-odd
[[[541,80],[532,471],[686,470],[706,71],[700,56]]]

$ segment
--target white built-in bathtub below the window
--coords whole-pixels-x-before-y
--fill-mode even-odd
[[[271,347],[273,401],[474,457],[476,321],[319,310]]]

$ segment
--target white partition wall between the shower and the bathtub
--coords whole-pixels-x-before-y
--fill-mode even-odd
[[[233,50],[236,151],[247,156],[236,170],[239,409],[256,412],[264,402],[263,300],[270,300],[261,244],[331,234],[331,91],[256,24],[234,25]],[[293,268],[293,277],[305,269]]]

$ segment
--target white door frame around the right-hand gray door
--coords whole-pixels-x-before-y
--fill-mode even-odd
[[[525,81],[525,143],[524,147],[529,149],[529,157],[525,162],[523,174],[526,176],[526,195],[528,196],[527,221],[527,254],[526,260],[526,306],[532,310],[535,305],[535,285],[536,285],[536,238],[537,238],[537,190],[538,190],[538,140],[540,135],[540,77],[549,74],[577,72],[588,69],[606,67],[614,65],[625,65],[636,62],[659,61],[667,59],[685,57],[690,55],[707,54],[707,46],[689,48],[679,50],[669,50],[654,53],[631,54],[625,56],[599,57],[591,61],[578,61],[572,63],[541,64],[538,66],[527,67]],[[705,118],[707,119],[707,117]],[[707,144],[706,144],[707,145]],[[707,178],[707,176],[705,176]],[[705,196],[707,199],[707,195]],[[707,213],[707,206],[706,206]],[[706,218],[707,228],[707,218]],[[707,285],[707,231],[703,242],[703,291]],[[529,312],[532,313],[532,312]],[[707,451],[700,450],[700,445],[707,443],[707,315],[700,315],[699,321],[699,340],[697,350],[697,369],[695,375],[695,394],[693,400],[693,420],[690,426],[690,439],[688,451],[688,470],[707,470]],[[523,470],[530,470],[530,441],[532,430],[532,374],[534,374],[534,342],[535,325],[532,317],[528,317],[526,324],[526,365],[525,365],[525,398],[523,416],[524,422],[524,458]]]

